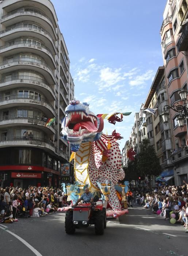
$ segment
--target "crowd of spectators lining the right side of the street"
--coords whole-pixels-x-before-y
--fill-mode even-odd
[[[151,210],[153,214],[160,215],[165,221],[174,218],[174,222],[171,223],[181,224],[188,233],[188,183],[185,181],[182,186],[165,185],[154,188],[151,193],[133,191],[133,200],[136,204]]]

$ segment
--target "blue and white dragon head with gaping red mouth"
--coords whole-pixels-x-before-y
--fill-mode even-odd
[[[73,152],[78,151],[82,142],[99,140],[104,127],[102,117],[97,117],[89,110],[89,104],[70,101],[65,109],[61,134],[70,143]]]

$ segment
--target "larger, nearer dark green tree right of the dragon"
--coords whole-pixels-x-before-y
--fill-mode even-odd
[[[141,152],[138,156],[137,168],[139,172],[151,180],[151,176],[161,174],[161,166],[155,149],[150,145],[149,139],[144,139],[141,144]]]

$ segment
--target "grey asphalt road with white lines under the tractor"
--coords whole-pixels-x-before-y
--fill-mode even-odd
[[[94,226],[68,235],[64,221],[65,213],[57,212],[0,225],[0,255],[188,256],[184,228],[138,206],[119,219],[109,220],[103,236],[95,235]]]

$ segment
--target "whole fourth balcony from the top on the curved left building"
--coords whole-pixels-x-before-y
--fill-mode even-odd
[[[45,62],[30,58],[15,58],[0,63],[0,74],[20,69],[29,69],[40,72],[51,84],[55,84],[55,75]]]

